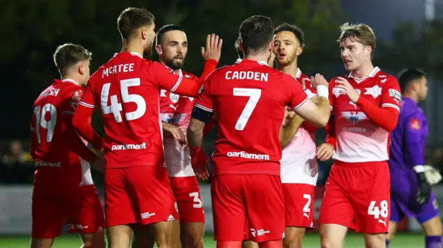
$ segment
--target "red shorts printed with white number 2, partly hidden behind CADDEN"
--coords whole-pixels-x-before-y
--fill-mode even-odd
[[[284,226],[314,227],[314,189],[311,184],[282,184]]]

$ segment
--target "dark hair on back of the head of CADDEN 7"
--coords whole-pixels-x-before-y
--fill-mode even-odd
[[[273,39],[273,23],[269,17],[254,15],[242,22],[239,34],[245,54],[267,50]]]

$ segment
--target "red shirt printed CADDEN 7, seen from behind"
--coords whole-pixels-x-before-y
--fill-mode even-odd
[[[209,75],[195,106],[217,113],[215,173],[280,175],[284,106],[307,99],[296,79],[265,61],[237,61]]]

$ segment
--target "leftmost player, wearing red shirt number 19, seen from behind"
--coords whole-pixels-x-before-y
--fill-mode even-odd
[[[35,160],[31,248],[51,247],[64,221],[80,233],[82,247],[105,247],[105,219],[89,163],[95,153],[73,130],[72,117],[89,79],[91,53],[64,44],[54,54],[62,79],[54,79],[34,103],[31,155]]]

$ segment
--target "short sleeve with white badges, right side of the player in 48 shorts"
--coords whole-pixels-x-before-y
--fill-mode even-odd
[[[383,82],[385,80],[386,82]],[[395,77],[387,77],[381,80],[381,107],[395,108],[400,111],[401,93],[400,86]]]

